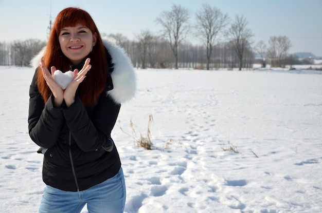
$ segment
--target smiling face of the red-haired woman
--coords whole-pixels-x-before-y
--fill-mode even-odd
[[[59,44],[63,54],[73,65],[81,63],[96,44],[97,34],[83,25],[65,27],[59,33]]]

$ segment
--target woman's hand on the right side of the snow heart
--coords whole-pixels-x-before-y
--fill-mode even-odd
[[[86,59],[83,68],[78,71],[78,69],[74,70],[74,80],[70,82],[63,93],[63,98],[67,107],[75,102],[75,93],[78,88],[78,85],[83,82],[86,78],[87,72],[91,69],[92,65],[90,65],[91,59]]]

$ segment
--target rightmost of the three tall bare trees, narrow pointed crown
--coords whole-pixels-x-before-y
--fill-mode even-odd
[[[238,67],[239,70],[243,67],[243,55],[244,51],[251,44],[251,38],[253,33],[251,29],[247,27],[247,20],[242,15],[236,15],[236,20],[232,23],[231,27],[225,33],[227,40],[229,41],[230,47],[234,50],[238,56]]]

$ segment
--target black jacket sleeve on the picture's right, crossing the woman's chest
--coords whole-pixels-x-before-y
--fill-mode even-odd
[[[76,96],[75,102],[63,109],[71,136],[83,151],[93,151],[108,143],[120,106],[109,96],[101,96],[89,116],[80,98]]]

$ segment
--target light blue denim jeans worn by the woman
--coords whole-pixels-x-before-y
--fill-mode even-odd
[[[63,191],[46,186],[39,213],[79,213],[87,204],[88,213],[123,212],[126,186],[122,168],[113,177],[83,191]]]

